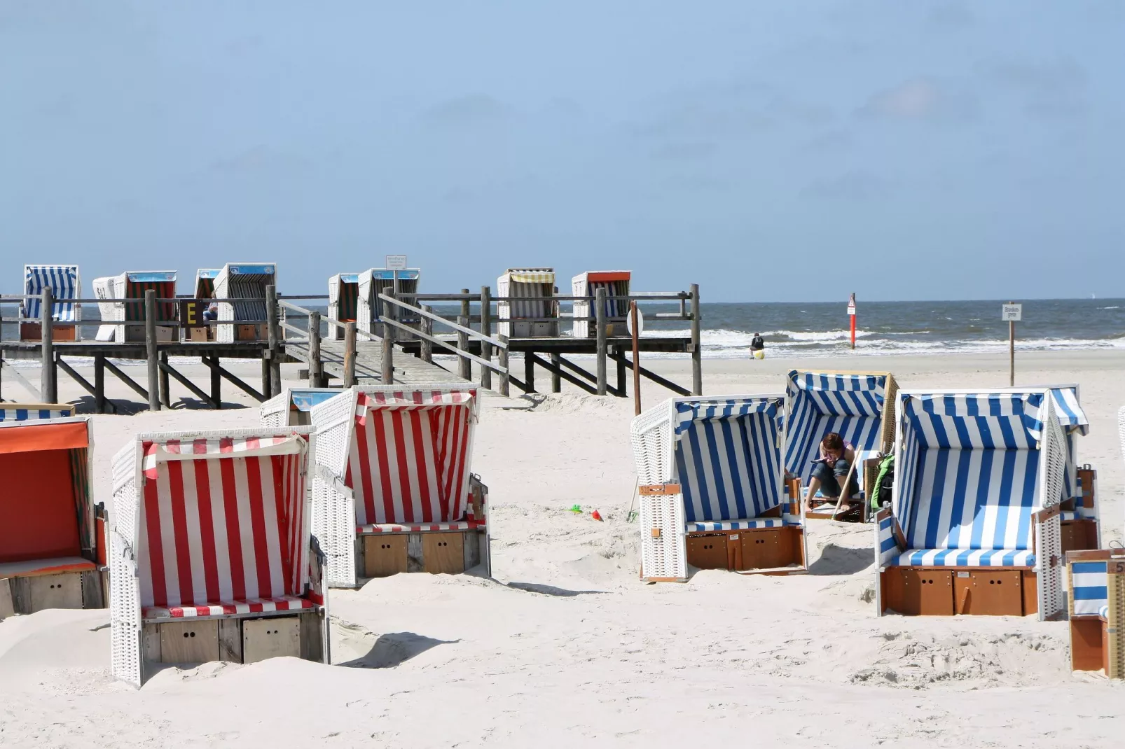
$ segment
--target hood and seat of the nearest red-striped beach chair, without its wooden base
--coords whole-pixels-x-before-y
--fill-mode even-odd
[[[145,621],[314,605],[307,433],[141,434],[114,463]]]

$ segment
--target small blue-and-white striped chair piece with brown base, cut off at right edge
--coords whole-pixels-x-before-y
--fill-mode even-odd
[[[1125,549],[1066,554],[1070,666],[1125,678]]]

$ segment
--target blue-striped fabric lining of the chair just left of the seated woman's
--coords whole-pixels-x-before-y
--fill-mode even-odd
[[[780,398],[676,404],[676,469],[688,524],[754,518],[782,503]]]

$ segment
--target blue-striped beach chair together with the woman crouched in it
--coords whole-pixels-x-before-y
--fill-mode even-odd
[[[891,450],[897,391],[886,372],[793,370],[786,376],[785,470],[793,491],[808,487],[806,517],[863,520],[864,499],[875,486],[874,459]],[[838,485],[845,480],[842,493]]]

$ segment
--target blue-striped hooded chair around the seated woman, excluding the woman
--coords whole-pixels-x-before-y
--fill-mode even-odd
[[[798,502],[812,478],[812,461],[820,441],[830,432],[855,446],[853,467],[861,494],[853,499],[866,506],[875,487],[874,458],[891,451],[894,432],[894,394],[898,385],[888,372],[799,372],[785,380],[785,470],[788,488]],[[865,516],[864,511],[864,516]],[[835,508],[813,509],[808,517],[831,518]]]

